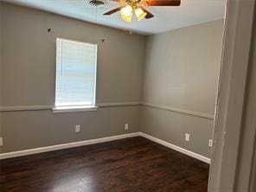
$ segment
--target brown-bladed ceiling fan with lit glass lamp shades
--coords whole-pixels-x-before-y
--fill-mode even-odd
[[[110,16],[120,11],[121,18],[125,22],[131,22],[132,14],[135,13],[137,20],[150,19],[154,17],[150,11],[146,10],[147,6],[180,6],[180,0],[110,0],[117,2],[120,6],[116,9],[107,11],[104,16]]]

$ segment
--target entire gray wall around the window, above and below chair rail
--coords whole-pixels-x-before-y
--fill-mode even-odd
[[[143,35],[80,22],[8,3],[3,6],[0,106],[52,106],[57,36],[99,45],[97,103],[141,100]],[[48,28],[52,29],[48,33]],[[101,42],[105,39],[105,42]],[[101,107],[97,112],[51,110],[1,112],[1,152],[102,138],[139,129],[140,106]],[[124,131],[124,124],[130,130]],[[81,132],[74,132],[74,125]]]

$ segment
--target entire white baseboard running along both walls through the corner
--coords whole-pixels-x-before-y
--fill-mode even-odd
[[[181,152],[185,155],[188,155],[189,157],[194,157],[198,160],[201,160],[202,162],[205,163],[210,163],[210,159],[208,157],[203,157],[195,152],[192,152],[190,150],[185,150],[181,147],[176,146],[175,144],[170,144],[168,142],[165,142],[159,138],[154,138],[148,134],[145,134],[144,132],[132,132],[128,134],[123,134],[123,135],[117,135],[117,136],[112,136],[112,137],[107,137],[107,138],[95,138],[95,139],[90,139],[90,140],[85,140],[85,141],[79,141],[79,142],[73,142],[73,143],[68,143],[68,144],[56,144],[48,147],[40,147],[40,148],[35,148],[35,149],[30,149],[30,150],[18,150],[14,152],[8,152],[8,153],[2,153],[0,154],[0,159],[6,159],[6,158],[12,158],[12,157],[22,157],[22,156],[27,156],[27,155],[32,155],[32,154],[37,154],[37,153],[42,153],[42,152],[48,152],[52,150],[64,150],[67,148],[73,148],[73,147],[79,147],[79,146],[84,146],[88,144],[99,144],[107,141],[113,141],[113,140],[118,140],[122,138],[132,138],[132,137],[137,137],[141,136],[143,138],[148,138],[153,142],[156,142],[157,144],[162,144],[166,147],[169,147],[172,150],[176,150],[178,152]]]

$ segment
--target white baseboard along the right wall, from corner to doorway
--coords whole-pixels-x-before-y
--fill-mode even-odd
[[[200,161],[202,161],[204,163],[208,163],[208,164],[211,163],[211,160],[208,157],[204,157],[204,156],[199,155],[199,154],[197,154],[195,152],[192,152],[190,150],[185,150],[182,147],[176,146],[175,144],[170,144],[170,143],[168,143],[166,141],[163,141],[163,140],[161,140],[159,138],[154,138],[154,137],[152,137],[152,136],[150,136],[150,135],[148,135],[148,134],[146,134],[144,132],[139,132],[139,136],[144,137],[144,138],[148,138],[151,141],[156,142],[157,144],[162,144],[162,145],[164,145],[166,147],[169,147],[172,150],[176,150],[178,152],[181,152],[181,153],[183,153],[183,154],[185,154],[185,155],[187,155],[189,157],[194,157],[194,158],[196,158],[196,159],[198,159],[198,160],[200,160]]]

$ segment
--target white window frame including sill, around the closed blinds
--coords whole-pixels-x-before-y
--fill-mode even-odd
[[[96,47],[95,53],[95,80],[94,80],[94,90],[93,90],[93,105],[74,105],[74,106],[56,106],[56,88],[57,88],[57,41],[67,41],[67,42],[75,42],[80,44],[93,45]],[[97,68],[98,68],[98,43],[92,42],[81,42],[77,40],[71,40],[62,37],[56,37],[55,40],[55,87],[54,87],[54,107],[52,109],[53,112],[86,112],[86,111],[96,111],[99,107],[96,106],[96,96],[97,96]]]

